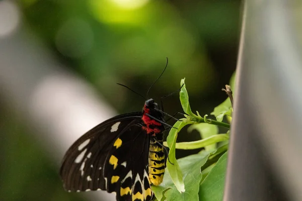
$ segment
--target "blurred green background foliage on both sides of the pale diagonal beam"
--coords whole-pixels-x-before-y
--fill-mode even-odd
[[[209,114],[226,98],[221,88],[236,67],[240,1],[20,0],[15,4],[22,26],[66,70],[93,84],[118,113],[140,111],[144,100],[116,82],[144,95],[165,67],[166,57],[168,68],[150,97],[159,101],[186,77],[193,111]],[[81,193],[63,190],[57,162],[31,134],[31,125],[16,118],[2,101],[6,93],[4,86],[1,89],[0,200],[85,200]],[[178,94],[166,98],[164,106],[169,114],[182,112]],[[179,138],[197,139],[197,133]]]

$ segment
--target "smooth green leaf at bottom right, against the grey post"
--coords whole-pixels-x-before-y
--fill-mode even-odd
[[[221,201],[223,198],[224,179],[226,171],[226,159],[228,152],[225,152],[211,169],[199,188],[199,200]]]

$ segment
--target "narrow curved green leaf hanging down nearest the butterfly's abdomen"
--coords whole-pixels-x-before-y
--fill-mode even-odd
[[[178,162],[175,157],[175,144],[178,136],[178,132],[186,125],[192,124],[193,122],[187,122],[187,119],[181,119],[182,121],[178,121],[174,124],[173,127],[178,128],[174,129],[172,128],[169,132],[169,135],[167,137],[167,144],[168,147],[170,148],[168,157],[169,160],[167,161],[167,169],[169,170],[169,173],[171,175],[171,178],[173,180],[173,183],[175,184],[176,188],[178,189],[179,192],[184,192],[185,191],[185,185],[183,181],[183,174],[180,170],[180,167],[178,165]]]

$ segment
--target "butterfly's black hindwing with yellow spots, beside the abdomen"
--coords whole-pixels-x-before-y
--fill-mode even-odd
[[[115,140],[104,166],[108,192],[117,200],[151,200],[148,178],[150,135],[135,124],[129,125]]]

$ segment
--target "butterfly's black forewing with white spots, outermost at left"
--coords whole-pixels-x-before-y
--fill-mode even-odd
[[[141,112],[136,112],[116,116],[75,141],[67,150],[60,169],[64,188],[68,191],[105,190],[103,168],[107,155],[118,136],[127,131],[126,128],[139,124],[141,115]]]

